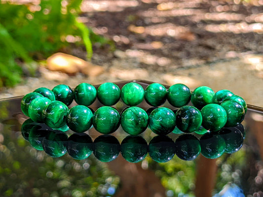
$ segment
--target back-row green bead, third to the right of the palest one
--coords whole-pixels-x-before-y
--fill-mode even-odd
[[[191,95],[191,102],[197,109],[202,109],[203,106],[212,103],[214,91],[207,86],[196,88]]]

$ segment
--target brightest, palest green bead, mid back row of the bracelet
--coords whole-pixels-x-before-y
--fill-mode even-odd
[[[138,105],[144,99],[144,89],[138,83],[127,83],[121,89],[121,99],[126,105]]]

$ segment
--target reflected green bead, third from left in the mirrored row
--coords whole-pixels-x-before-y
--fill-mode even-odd
[[[61,157],[67,153],[67,142],[68,136],[65,133],[49,131],[42,141],[42,146],[45,153],[49,156]]]

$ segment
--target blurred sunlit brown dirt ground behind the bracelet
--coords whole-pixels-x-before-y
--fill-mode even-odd
[[[99,76],[68,76],[40,69],[0,98],[25,95],[38,87],[71,87],[144,79],[191,90],[229,89],[263,107],[263,0],[84,0],[80,20],[112,39],[116,50],[93,45]],[[85,59],[82,47],[70,54]],[[54,77],[50,77],[54,75]],[[47,77],[49,76],[49,77]]]

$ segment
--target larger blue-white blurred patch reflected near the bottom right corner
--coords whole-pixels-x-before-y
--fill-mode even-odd
[[[236,184],[226,184],[223,189],[213,197],[245,197],[243,190]]]

